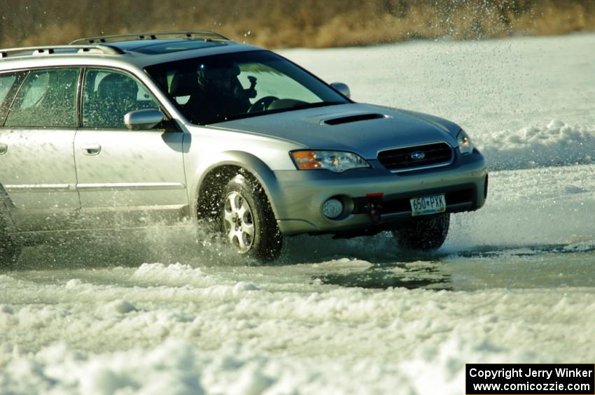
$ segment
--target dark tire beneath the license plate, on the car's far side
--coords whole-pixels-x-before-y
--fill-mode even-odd
[[[450,214],[419,218],[392,231],[398,245],[407,250],[437,250],[448,235]]]

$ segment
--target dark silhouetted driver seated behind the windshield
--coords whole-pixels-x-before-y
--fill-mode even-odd
[[[197,87],[186,107],[204,123],[246,113],[251,106],[248,98],[255,96],[255,79],[251,80],[250,88],[244,89],[237,76],[238,66],[209,69],[200,65]]]

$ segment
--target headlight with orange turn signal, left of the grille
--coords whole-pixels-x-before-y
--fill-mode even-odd
[[[335,173],[342,173],[351,168],[371,167],[365,159],[351,152],[292,151],[289,155],[298,170],[325,168]]]

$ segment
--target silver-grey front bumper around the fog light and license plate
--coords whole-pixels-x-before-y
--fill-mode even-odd
[[[283,235],[342,233],[382,224],[411,220],[409,199],[445,194],[447,213],[472,211],[482,207],[487,195],[484,157],[476,150],[470,155],[457,152],[453,164],[425,171],[391,173],[377,161],[372,168],[332,173],[331,171],[276,171],[278,188],[274,206]],[[380,222],[366,211],[369,194],[384,194]],[[322,204],[338,197],[346,213],[330,220]]]

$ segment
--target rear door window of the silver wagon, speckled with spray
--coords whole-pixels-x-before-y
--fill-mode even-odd
[[[76,127],[79,69],[32,70],[8,111],[7,127]]]

